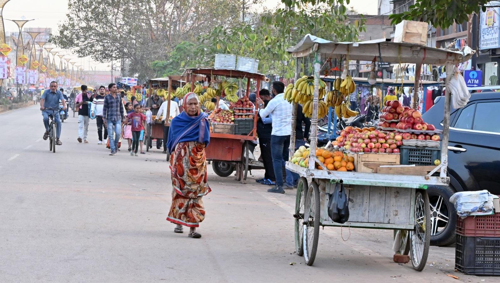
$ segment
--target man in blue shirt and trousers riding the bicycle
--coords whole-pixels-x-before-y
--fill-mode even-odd
[[[57,82],[56,81],[51,81],[50,82],[50,89],[43,91],[43,94],[41,95],[40,99],[40,110],[41,115],[43,116],[43,124],[45,125],[45,133],[43,134],[43,139],[47,139],[48,137],[48,116],[54,114],[55,117],[55,124],[57,125],[57,132],[56,132],[56,140],[55,144],[61,145],[62,142],[59,140],[59,137],[61,135],[61,119],[59,117],[59,99],[62,102],[62,109],[66,109],[66,100],[64,100],[64,97],[62,96],[62,92],[57,90]],[[47,109],[45,109],[47,108]],[[48,110],[48,109],[57,109],[56,111]]]

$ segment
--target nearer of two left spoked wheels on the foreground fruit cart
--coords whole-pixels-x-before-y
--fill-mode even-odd
[[[303,227],[303,249],[305,264],[312,265],[316,257],[319,237],[319,188],[311,181],[305,197],[305,213]]]

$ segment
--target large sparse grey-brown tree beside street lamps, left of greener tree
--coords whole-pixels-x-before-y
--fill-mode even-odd
[[[166,60],[178,43],[237,22],[239,9],[231,0],[69,0],[50,41],[100,62],[127,60],[130,74],[145,78],[154,74],[152,62]]]

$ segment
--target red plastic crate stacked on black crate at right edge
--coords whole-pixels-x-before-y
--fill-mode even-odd
[[[500,213],[456,218],[456,233],[462,236],[500,237]]]

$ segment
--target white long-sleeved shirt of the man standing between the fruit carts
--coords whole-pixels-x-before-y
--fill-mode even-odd
[[[272,135],[289,135],[291,133],[291,104],[284,100],[284,93],[274,96],[258,114],[265,118],[272,115]]]

